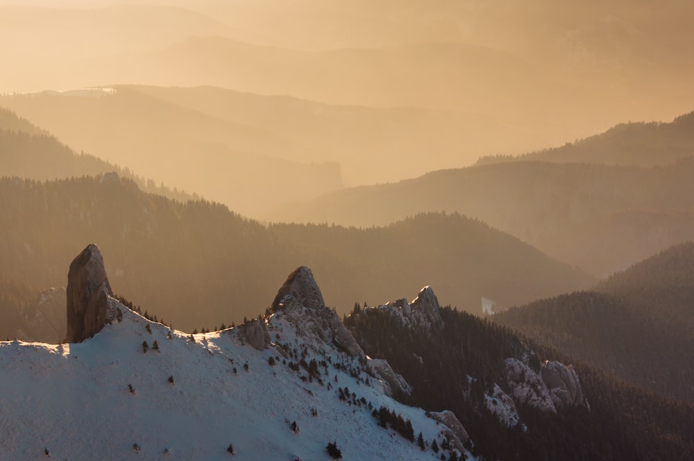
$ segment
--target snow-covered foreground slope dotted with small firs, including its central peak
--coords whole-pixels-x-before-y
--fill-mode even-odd
[[[76,261],[92,257],[103,264],[94,245]],[[0,342],[3,460],[321,460],[331,442],[350,460],[433,460],[443,447],[471,456],[459,428],[391,399],[387,362],[371,366],[310,269],[291,274],[260,319],[200,335],[129,310],[92,269],[69,277],[68,322],[101,317],[106,296],[93,337]]]

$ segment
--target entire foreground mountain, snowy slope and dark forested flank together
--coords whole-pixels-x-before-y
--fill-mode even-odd
[[[80,342],[0,342],[8,459],[651,460],[694,452],[691,407],[583,364],[540,364],[509,330],[441,308],[431,287],[412,303],[355,309],[345,325],[312,271],[298,267],[264,315],[188,334],[110,296],[103,260],[90,244],[70,265],[68,330],[81,330]],[[377,343],[397,364],[366,355],[362,346]]]

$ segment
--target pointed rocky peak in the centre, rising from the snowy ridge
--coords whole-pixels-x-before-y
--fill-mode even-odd
[[[272,311],[287,315],[298,331],[333,344],[353,357],[366,358],[337,314],[325,306],[323,294],[308,267],[298,267],[289,274],[275,296]]]

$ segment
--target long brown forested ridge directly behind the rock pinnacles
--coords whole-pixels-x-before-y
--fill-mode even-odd
[[[118,294],[188,330],[257,317],[270,301],[264,293],[302,264],[314,267],[340,314],[355,301],[393,299],[414,283],[478,312],[482,296],[502,307],[594,281],[460,215],[366,230],[263,226],[217,203],[144,193],[114,174],[0,180],[0,274],[8,280],[36,290],[64,286],[61,268],[85,241],[111,255],[106,265]]]

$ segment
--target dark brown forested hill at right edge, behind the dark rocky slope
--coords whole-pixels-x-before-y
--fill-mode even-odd
[[[631,299],[641,290],[634,291]],[[492,319],[629,383],[694,402],[691,318],[661,305],[648,308],[609,294],[576,292],[511,308]]]

